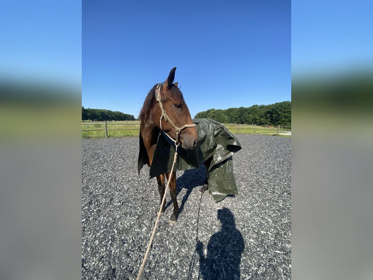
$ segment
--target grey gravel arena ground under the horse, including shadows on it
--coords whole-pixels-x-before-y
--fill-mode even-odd
[[[168,193],[141,279],[291,279],[291,139],[237,138],[239,195],[215,203],[204,166],[178,171],[178,222]],[[137,156],[138,138],[82,139],[82,279],[136,279],[160,202]]]

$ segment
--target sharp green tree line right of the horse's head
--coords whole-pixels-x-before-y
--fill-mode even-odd
[[[251,107],[209,109],[195,118],[208,118],[223,123],[291,126],[291,101]]]

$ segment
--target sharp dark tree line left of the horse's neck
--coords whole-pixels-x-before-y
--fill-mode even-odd
[[[82,120],[136,120],[133,115],[124,114],[118,111],[110,111],[104,109],[90,109],[82,106]]]

